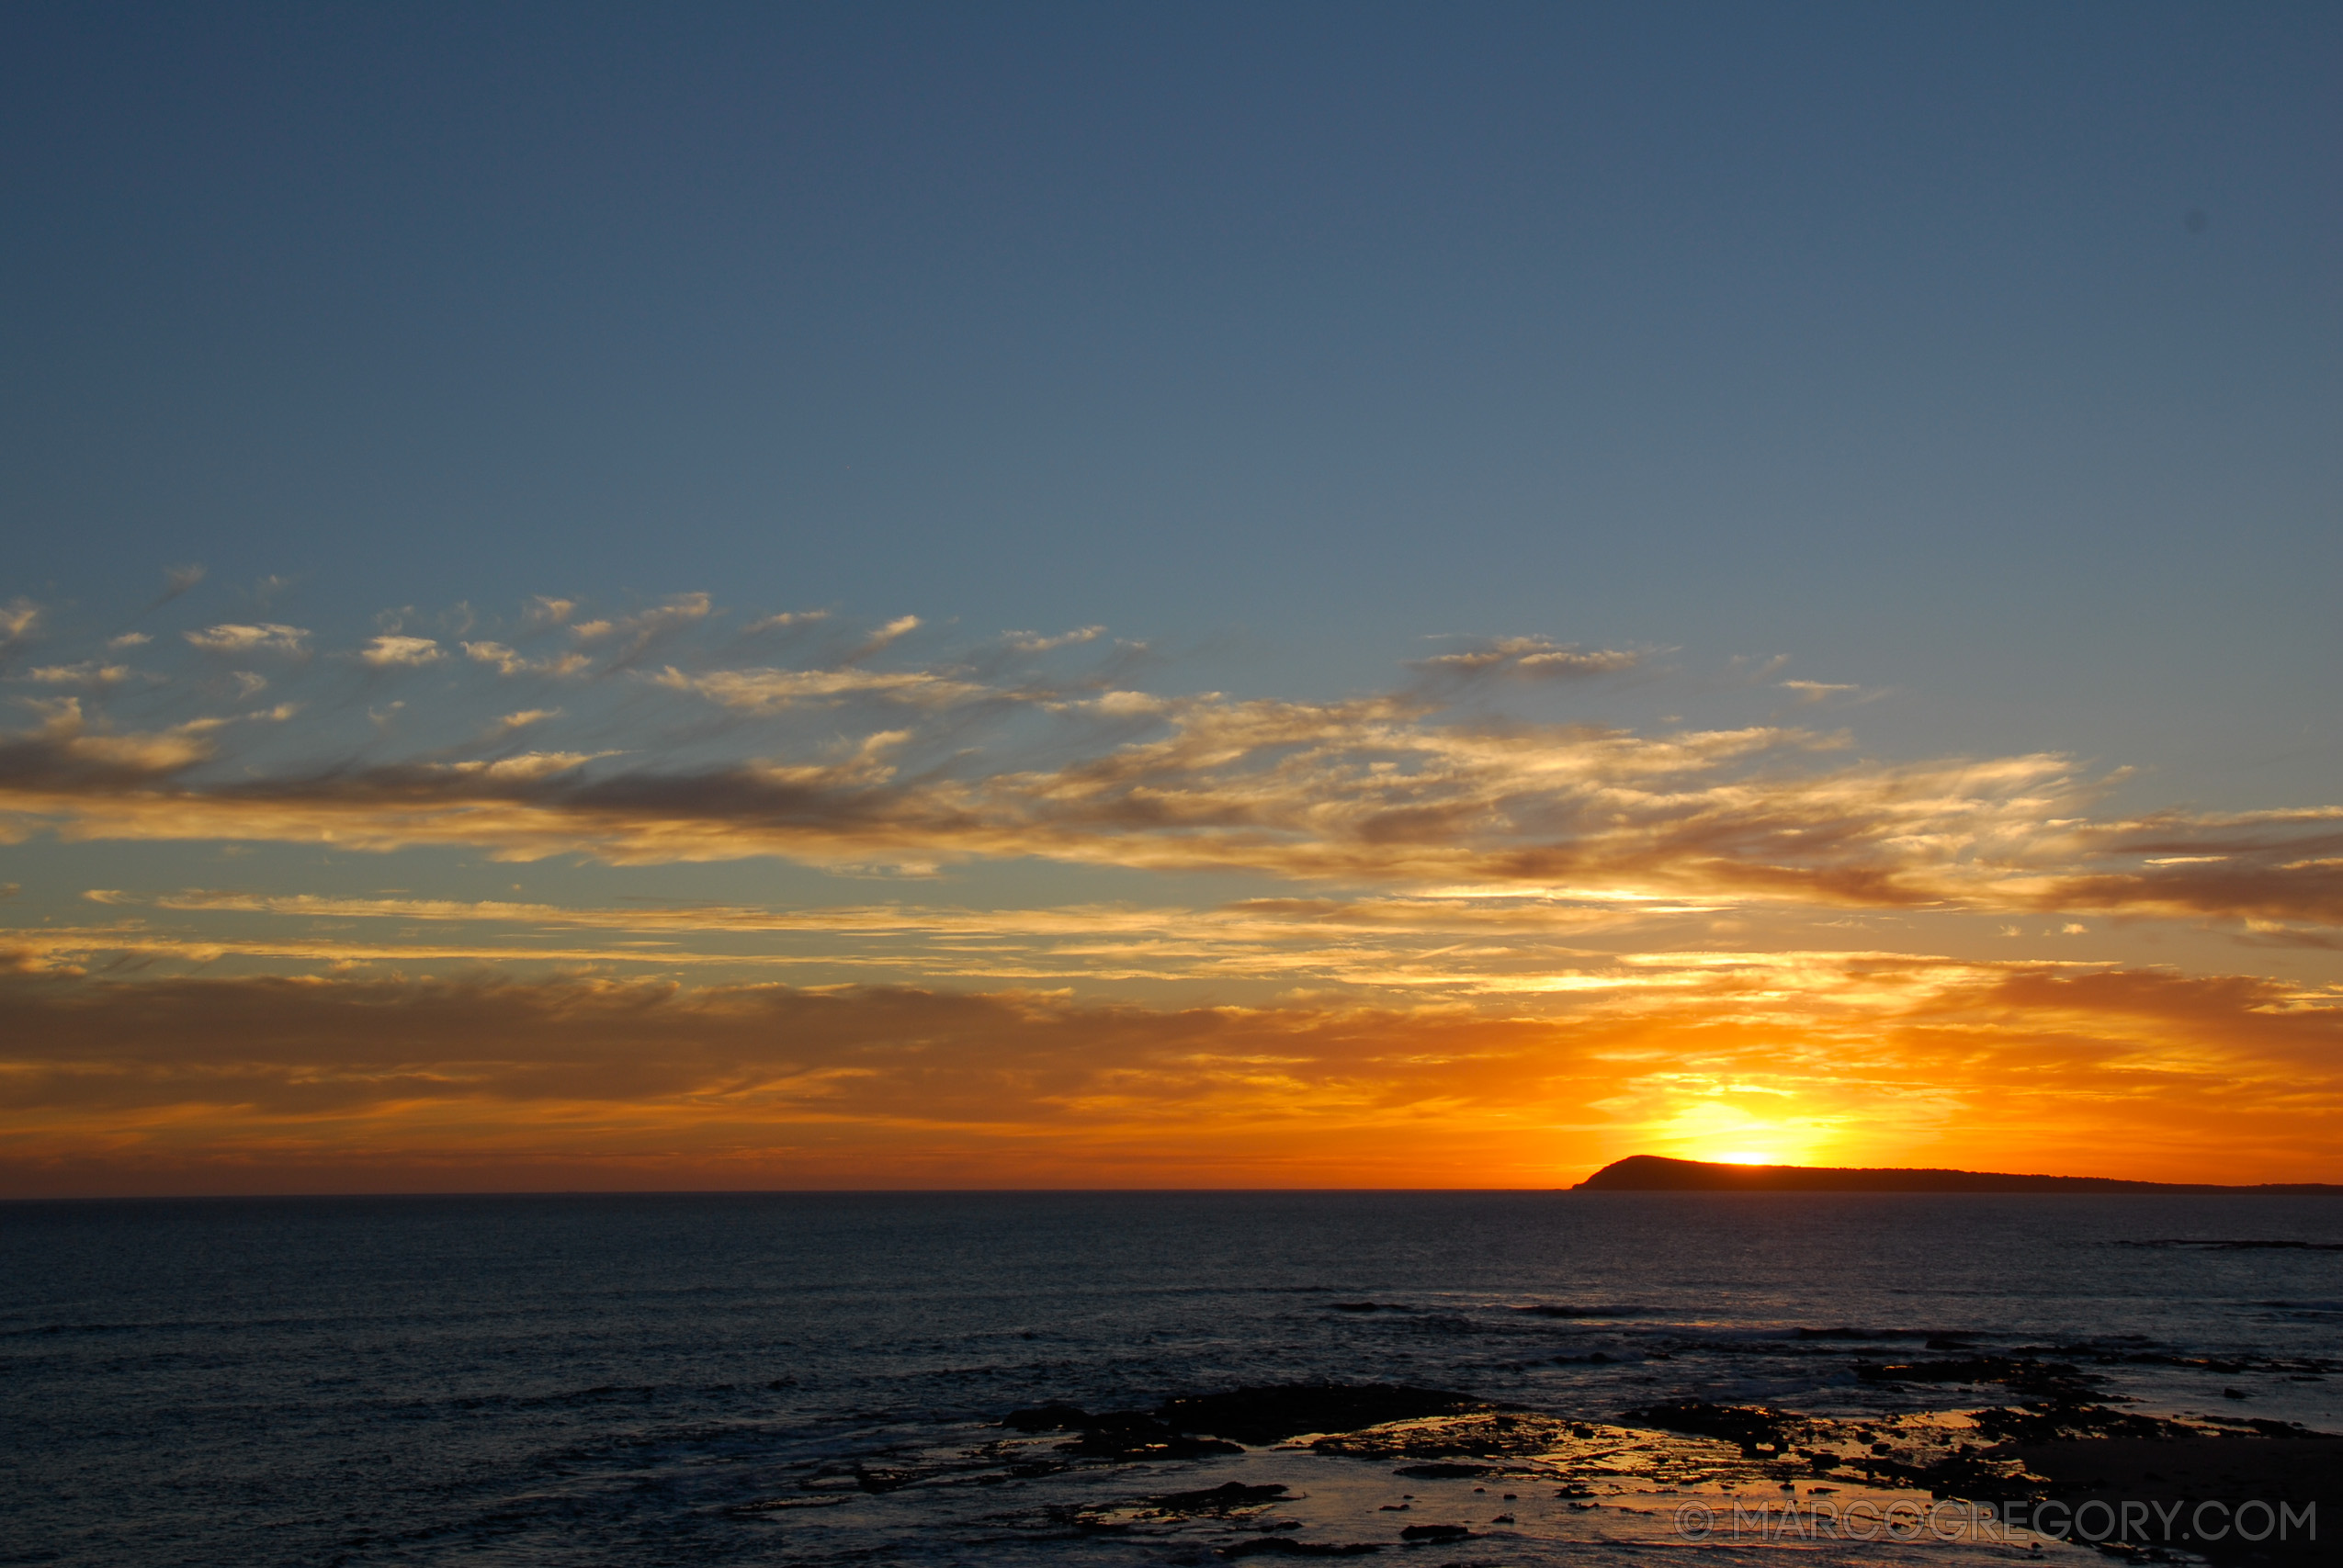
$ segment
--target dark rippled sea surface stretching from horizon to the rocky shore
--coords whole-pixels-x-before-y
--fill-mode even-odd
[[[1000,1416],[1317,1380],[1572,1418],[1977,1404],[1853,1371],[1926,1338],[2055,1350],[2149,1413],[2343,1430],[2343,1252],[2160,1242],[2334,1247],[2343,1200],[14,1202],[0,1561],[1211,1563],[1193,1530],[1118,1538],[1068,1507],[1256,1455],[1019,1472],[986,1448]],[[1293,1495],[1371,1470],[1272,1458],[1328,1467]],[[1495,1533],[1441,1561],[1647,1556]]]

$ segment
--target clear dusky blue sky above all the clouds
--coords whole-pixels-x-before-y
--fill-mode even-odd
[[[2322,7],[9,30],[26,586],[1790,652],[2224,792],[2338,652]]]

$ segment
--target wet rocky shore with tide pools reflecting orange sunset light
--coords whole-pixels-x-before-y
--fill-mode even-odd
[[[1678,1399],[1572,1420],[1450,1390],[1312,1383],[1122,1411],[1043,1404],[975,1444],[818,1467],[738,1512],[949,1491],[1071,1561],[1087,1561],[1080,1542],[1195,1563],[1427,1545],[1492,1566],[1586,1561],[1603,1545],[1802,1547],[1846,1563],[1912,1549],[1945,1563],[2334,1561],[2343,1439],[2123,1411],[2074,1366],[2027,1357],[1858,1371],[2003,1399],[1874,1418]]]

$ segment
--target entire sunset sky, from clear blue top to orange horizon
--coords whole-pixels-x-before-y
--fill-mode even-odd
[[[2343,1181],[2343,12],[0,14],[0,1195]]]

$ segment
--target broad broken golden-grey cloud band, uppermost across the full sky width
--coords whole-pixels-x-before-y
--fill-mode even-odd
[[[2099,820],[2120,773],[2092,776],[2059,755],[1874,762],[1795,724],[1528,724],[1488,713],[1490,687],[1474,691],[1471,717],[1448,705],[1455,682],[1514,680],[1546,659],[1624,668],[1633,654],[1504,638],[1425,661],[1425,680],[1382,696],[1075,696],[993,687],[972,663],[736,668],[689,635],[712,616],[705,595],[684,595],[574,628],[600,626],[588,642],[612,652],[677,640],[654,673],[583,687],[562,710],[520,710],[539,741],[532,755],[579,762],[466,762],[459,736],[480,750],[515,724],[490,717],[508,703],[462,670],[403,710],[396,736],[412,736],[410,755],[391,734],[344,727],[344,703],[312,703],[265,745],[213,734],[239,715],[204,713],[225,680],[211,675],[155,687],[152,701],[183,703],[178,724],[141,715],[115,734],[89,708],[75,710],[73,736],[54,724],[7,734],[0,820],[14,837],[436,844],[506,860],[778,855],[846,870],[1031,858],[1352,893],[1504,886],[1621,912],[2113,914],[2228,921],[2240,935],[2259,921],[2256,940],[2343,923],[2343,809]],[[230,623],[187,642],[255,654],[300,652],[307,638]],[[459,647],[483,675],[588,673],[583,652]],[[366,654],[445,663],[438,642],[398,633]],[[251,670],[234,677],[246,698],[262,684]],[[89,691],[96,701],[103,682]],[[675,694],[701,701],[647,701]],[[300,698],[298,684],[288,696]],[[110,766],[96,766],[101,755]]]

